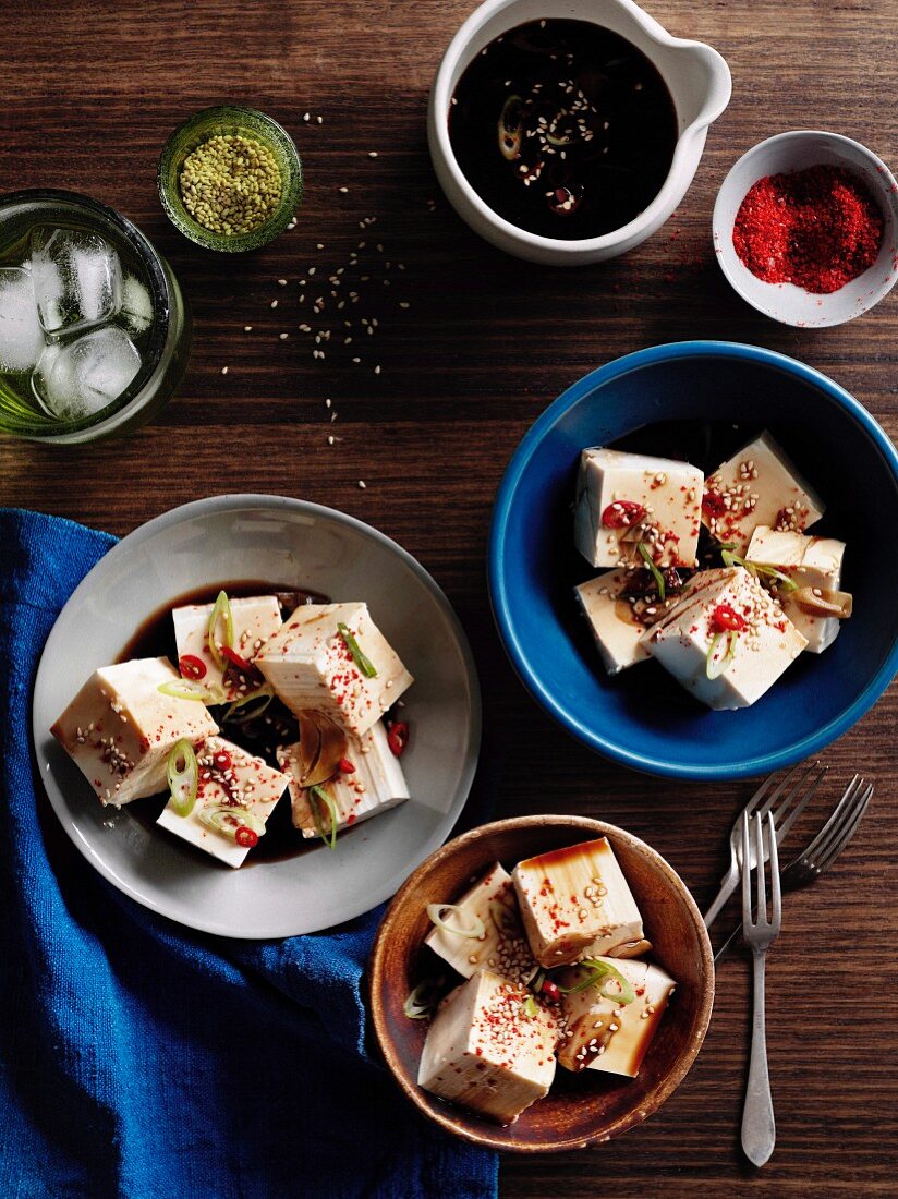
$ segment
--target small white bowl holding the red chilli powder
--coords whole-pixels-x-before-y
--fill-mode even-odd
[[[882,246],[863,275],[828,295],[814,295],[794,283],[765,283],[752,275],[733,246],[733,227],[746,193],[759,179],[807,167],[844,167],[861,179],[885,218]],[[860,141],[821,129],[778,133],[742,155],[724,179],[712,218],[715,252],[734,289],[765,317],[800,329],[822,329],[854,320],[894,287],[898,271],[898,183],[886,164]]]

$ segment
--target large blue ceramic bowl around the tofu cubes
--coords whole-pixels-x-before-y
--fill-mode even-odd
[[[638,432],[645,426],[671,422]],[[682,423],[680,423],[682,422]],[[656,663],[605,675],[573,595],[597,572],[573,548],[580,450],[633,434],[640,448],[712,470],[761,428],[827,505],[848,543],[855,615],[753,707],[712,712]],[[753,345],[682,342],[609,362],[525,435],[496,496],[489,586],[524,683],[574,736],[637,770],[743,778],[816,753],[873,706],[898,669],[898,453],[866,409],[816,370]]]

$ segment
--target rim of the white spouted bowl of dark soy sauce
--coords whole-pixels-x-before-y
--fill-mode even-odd
[[[628,237],[638,235],[644,228],[650,227],[652,221],[669,206],[671,198],[677,193],[683,171],[688,170],[689,159],[694,155],[695,135],[712,125],[729,104],[733,84],[727,60],[719,50],[716,50],[713,46],[710,46],[707,42],[700,42],[695,38],[688,37],[676,37],[674,34],[668,32],[664,25],[635,4],[635,0],[608,0],[608,2],[615,7],[619,7],[623,10],[623,12],[628,13],[629,18],[641,29],[646,38],[656,46],[663,48],[692,49],[706,55],[709,61],[715,66],[717,79],[713,86],[709,85],[709,96],[705,106],[699,112],[699,115],[691,121],[689,125],[685,126],[677,134],[674,156],[670,161],[670,168],[664,182],[652,201],[646,205],[643,212],[633,217],[632,221],[628,221],[627,224],[620,225],[617,229],[611,229],[609,233],[599,234],[597,237],[580,237],[574,240],[565,237],[546,237],[542,234],[530,233],[528,229],[523,229],[520,225],[516,225],[511,221],[506,221],[504,216],[496,212],[495,209],[490,207],[489,204],[482,199],[480,193],[469,182],[468,176],[464,174],[458,163],[448,133],[448,121],[445,119],[445,114],[448,113],[452,95],[448,86],[448,79],[456,70],[458,61],[464,58],[470,42],[476,37],[488,20],[501,14],[504,11],[513,10],[519,2],[520,0],[483,0],[483,2],[480,4],[456,30],[452,40],[442,54],[442,58],[440,59],[440,65],[436,68],[436,76],[430,89],[430,120],[428,123],[433,132],[433,137],[439,146],[446,169],[451,175],[453,183],[464,194],[465,200],[476,211],[477,216],[500,235],[510,237],[518,245],[526,246],[530,249],[549,251],[565,259],[617,246]],[[596,13],[593,17],[578,17],[575,19],[586,20],[593,25],[602,24],[601,13]],[[514,23],[508,25],[508,29],[513,28]],[[667,79],[658,64],[649,54],[645,52],[643,53],[646,58],[649,58],[650,62],[658,74],[661,74],[664,84],[667,85]],[[721,90],[718,91],[718,89]],[[676,106],[674,107],[676,108]],[[704,146],[700,147],[699,156],[695,159],[695,169],[698,168],[701,150],[704,150]],[[689,176],[685,192],[688,192],[693,177],[694,171],[693,175]]]

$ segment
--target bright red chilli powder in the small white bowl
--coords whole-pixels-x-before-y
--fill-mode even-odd
[[[766,283],[794,283],[825,295],[872,266],[882,243],[882,213],[844,167],[766,175],[736,213],[733,247]]]

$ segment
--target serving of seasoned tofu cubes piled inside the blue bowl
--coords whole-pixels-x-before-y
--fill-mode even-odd
[[[704,477],[689,463],[580,454],[574,588],[610,675],[655,658],[712,709],[754,704],[851,615],[844,542],[806,536],[825,506],[766,430]]]

